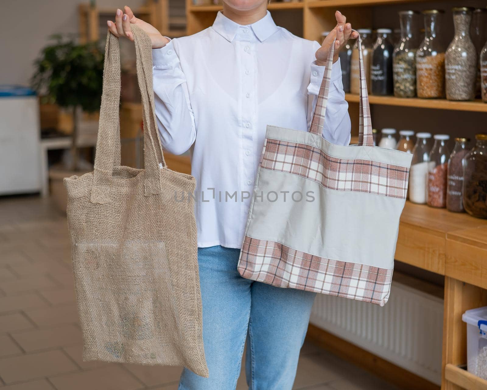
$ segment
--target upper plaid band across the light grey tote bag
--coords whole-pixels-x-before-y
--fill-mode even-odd
[[[406,199],[409,168],[363,159],[328,156],[321,149],[267,138],[261,167],[296,174],[339,191]]]

